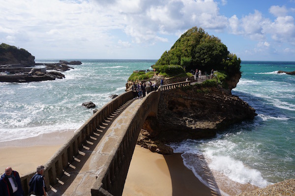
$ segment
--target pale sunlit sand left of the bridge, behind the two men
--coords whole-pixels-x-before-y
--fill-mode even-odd
[[[25,175],[44,165],[54,153],[68,140],[74,130],[41,134],[23,140],[0,142],[0,174],[11,166],[19,174]]]

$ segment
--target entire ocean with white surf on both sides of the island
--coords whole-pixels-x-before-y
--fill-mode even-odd
[[[111,101],[110,95],[125,91],[133,70],[149,69],[156,62],[81,61],[82,65],[72,65],[74,69],[64,72],[65,79],[0,83],[0,146],[11,140],[78,129],[93,114],[82,103],[92,101],[101,108]],[[205,184],[206,179],[198,173],[197,154],[203,155],[207,167],[222,176],[220,179],[239,184],[266,187],[295,178],[295,76],[278,74],[278,70],[294,71],[295,62],[242,61],[242,77],[232,93],[256,109],[254,120],[232,125],[212,139],[171,144],[175,152],[182,153],[186,167]]]

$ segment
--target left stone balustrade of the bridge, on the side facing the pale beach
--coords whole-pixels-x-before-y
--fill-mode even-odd
[[[74,160],[74,156],[78,153],[78,148],[82,143],[89,138],[89,136],[96,131],[99,124],[103,122],[113,111],[118,109],[126,101],[133,99],[132,91],[124,92],[118,97],[114,98],[109,103],[105,104],[97,112],[95,112],[78,130],[75,131],[74,136],[67,140],[59,150],[50,158],[44,165],[45,185],[50,187],[58,182],[59,177],[62,176],[64,169]],[[21,177],[21,182],[25,195],[29,192],[29,180],[35,174],[32,171]]]

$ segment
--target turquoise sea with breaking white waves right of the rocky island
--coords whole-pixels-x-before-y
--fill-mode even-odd
[[[186,140],[172,146],[197,174],[196,154],[211,170],[235,182],[265,187],[295,178],[295,62],[243,61],[242,77],[232,90],[258,114],[219,132],[210,140]],[[200,176],[198,176],[201,178]]]

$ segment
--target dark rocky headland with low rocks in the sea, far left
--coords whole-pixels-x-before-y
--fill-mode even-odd
[[[74,69],[68,65],[80,65],[81,61],[59,63],[35,63],[35,57],[25,49],[2,43],[0,45],[0,82],[38,82],[64,78],[60,72]],[[54,71],[53,71],[54,70]]]

